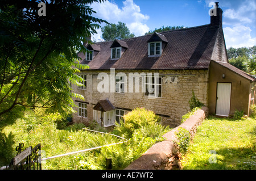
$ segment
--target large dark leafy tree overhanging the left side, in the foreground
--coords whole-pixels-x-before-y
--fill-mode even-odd
[[[39,2],[46,16],[39,16]],[[82,41],[97,33],[100,23],[89,7],[102,0],[9,1],[0,3],[0,116],[24,107],[73,111],[70,83],[81,85],[75,73]]]

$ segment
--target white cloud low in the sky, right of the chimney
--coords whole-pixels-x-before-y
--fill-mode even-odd
[[[251,37],[251,28],[238,25],[233,28],[223,28],[226,48],[253,47],[256,45],[256,37]]]

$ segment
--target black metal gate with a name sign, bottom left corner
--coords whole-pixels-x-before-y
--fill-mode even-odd
[[[24,144],[21,143],[16,146],[16,157],[11,160],[7,170],[42,170],[41,163],[41,144],[24,148]]]

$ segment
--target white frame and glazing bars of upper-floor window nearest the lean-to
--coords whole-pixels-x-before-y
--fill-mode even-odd
[[[154,78],[154,82],[152,82],[152,78]],[[156,81],[158,79],[158,81]],[[160,80],[160,83],[159,83]],[[147,75],[146,77],[144,77],[144,96],[148,96],[148,97],[153,97],[153,98],[162,98],[162,82],[163,79],[160,76],[152,76],[152,75]],[[154,91],[149,91],[148,92],[148,86],[152,87],[154,86]],[[158,95],[156,96],[156,91],[155,91],[155,87],[158,86],[161,87],[158,90]],[[160,95],[160,96],[159,96]]]

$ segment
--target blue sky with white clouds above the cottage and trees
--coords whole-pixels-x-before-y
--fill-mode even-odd
[[[135,36],[162,26],[195,27],[210,23],[210,0],[108,0],[94,3],[97,18],[123,22]],[[226,47],[256,45],[256,0],[218,0],[223,10]],[[104,26],[104,24],[102,24]],[[101,30],[92,36],[101,41]]]

